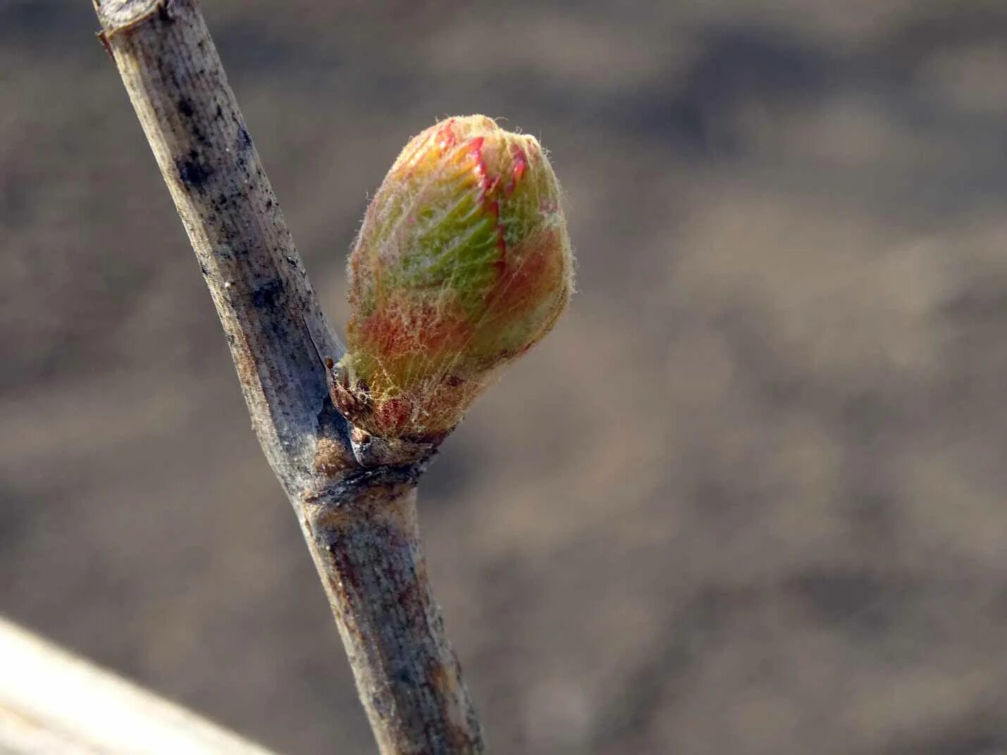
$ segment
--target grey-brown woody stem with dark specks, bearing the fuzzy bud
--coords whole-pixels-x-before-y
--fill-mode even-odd
[[[252,425],[304,530],[382,753],[482,737],[426,576],[424,462],[363,467],[328,393],[325,322],[193,0],[96,0],[224,326]]]

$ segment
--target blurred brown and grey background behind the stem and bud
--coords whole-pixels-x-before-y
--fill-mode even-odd
[[[497,752],[1007,752],[1007,5],[204,10],[333,322],[436,118],[564,181],[580,293],[421,493]],[[282,752],[370,752],[96,28],[0,0],[0,611]]]

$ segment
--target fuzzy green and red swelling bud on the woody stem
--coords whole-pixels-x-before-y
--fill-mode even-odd
[[[538,141],[484,116],[415,137],[349,257],[335,405],[378,438],[438,443],[573,290],[556,174]]]

